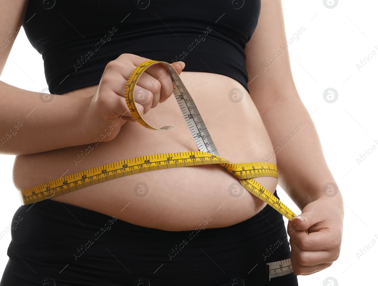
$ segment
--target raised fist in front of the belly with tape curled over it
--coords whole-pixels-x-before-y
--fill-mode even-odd
[[[106,65],[96,93],[88,97],[81,108],[81,126],[91,140],[110,141],[126,121],[136,121],[127,107],[125,88],[134,69],[146,60],[149,59],[134,54],[121,54]],[[183,62],[171,65],[178,74],[185,66]],[[172,93],[173,82],[169,71],[166,66],[155,63],[138,80],[134,90],[136,107],[140,114],[145,114]]]

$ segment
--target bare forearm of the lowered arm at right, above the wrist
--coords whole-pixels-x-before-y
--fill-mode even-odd
[[[325,161],[314,123],[296,91],[260,112],[276,156],[279,184],[303,209],[323,195],[323,187],[335,182]]]

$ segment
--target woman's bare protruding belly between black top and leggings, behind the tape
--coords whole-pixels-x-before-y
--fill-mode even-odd
[[[211,73],[183,72],[180,77],[220,156],[234,163],[260,162],[273,150],[257,109],[239,82]],[[76,90],[67,96],[91,96],[96,88]],[[243,91],[240,103],[229,99],[232,88]],[[92,148],[88,144],[17,156],[13,169],[15,186],[22,190],[63,175],[144,155],[199,150],[173,95],[143,118],[154,127],[174,128],[157,131],[138,122],[126,122],[115,139]],[[275,158],[270,162],[276,164]],[[274,192],[278,180],[260,177],[256,181]],[[241,196],[234,186],[243,192]],[[138,173],[51,199],[132,224],[172,231],[203,228],[204,223],[208,228],[230,226],[256,215],[266,205],[218,164]]]

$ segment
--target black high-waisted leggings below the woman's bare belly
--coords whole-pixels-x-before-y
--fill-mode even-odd
[[[19,207],[12,226],[0,286],[298,285],[293,273],[266,281],[266,263],[290,257],[270,206],[228,227],[166,231],[47,199]]]

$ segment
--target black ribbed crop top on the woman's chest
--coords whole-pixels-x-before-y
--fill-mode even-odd
[[[223,74],[248,91],[244,48],[259,14],[260,0],[29,0],[23,27],[50,93],[98,84],[123,53],[182,60],[184,71]]]

